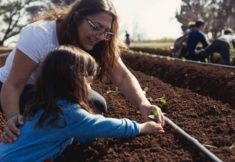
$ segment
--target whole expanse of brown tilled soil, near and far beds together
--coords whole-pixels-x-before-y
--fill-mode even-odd
[[[167,117],[222,161],[235,161],[234,68],[168,60],[131,51],[123,51],[122,58],[142,88],[148,88],[146,96],[159,105]],[[92,87],[108,102],[105,116],[142,121],[139,110],[111,82],[103,84],[96,80]],[[3,116],[0,120],[2,128]],[[68,162],[210,161],[169,125],[165,131],[124,140],[100,139],[86,145],[73,143],[63,155]]]

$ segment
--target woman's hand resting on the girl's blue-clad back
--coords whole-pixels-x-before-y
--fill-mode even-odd
[[[16,115],[7,120],[4,127],[4,132],[1,134],[1,142],[11,143],[16,141],[20,135],[20,130],[17,126],[24,124],[24,117],[22,115]]]

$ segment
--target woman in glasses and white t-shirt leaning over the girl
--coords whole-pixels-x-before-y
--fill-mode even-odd
[[[148,120],[152,108],[158,107],[150,104],[137,79],[123,64],[117,31],[116,11],[109,0],[77,0],[68,10],[57,10],[26,26],[0,70],[0,81],[4,83],[1,105],[8,118],[2,139],[5,142],[17,139],[20,134],[17,125],[23,124],[22,115],[16,118],[20,100],[24,102],[25,98],[21,94],[26,91],[28,100],[44,58],[59,45],[74,45],[90,53],[99,65],[98,76],[109,76],[126,98],[139,107],[144,120]],[[160,113],[162,125],[163,118]]]

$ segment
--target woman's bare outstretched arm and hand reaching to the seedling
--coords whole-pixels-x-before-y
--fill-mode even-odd
[[[144,120],[148,120],[152,108],[159,107],[152,105],[143,93],[142,88],[136,77],[127,69],[121,58],[118,59],[114,66],[110,78],[118,86],[126,98],[141,111]],[[164,117],[160,111],[159,121],[164,125]]]

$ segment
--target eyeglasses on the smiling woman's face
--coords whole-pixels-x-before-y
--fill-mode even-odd
[[[110,40],[112,38],[112,36],[114,35],[114,33],[110,32],[110,31],[106,31],[106,29],[104,29],[103,27],[101,27],[102,25],[97,23],[97,22],[93,22],[92,20],[86,18],[88,24],[90,25],[90,27],[93,30],[93,33],[96,36],[103,36],[104,40]],[[96,25],[97,24],[97,25]]]

